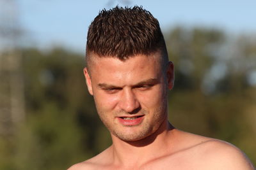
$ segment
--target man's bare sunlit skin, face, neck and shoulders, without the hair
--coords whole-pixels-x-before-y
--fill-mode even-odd
[[[168,122],[173,64],[163,67],[160,53],[124,61],[93,57],[90,73],[84,69],[86,84],[113,145],[68,170],[253,169],[235,146],[180,131]]]

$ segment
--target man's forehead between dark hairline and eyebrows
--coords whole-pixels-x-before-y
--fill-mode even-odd
[[[127,60],[116,57],[95,57],[90,62],[90,74],[95,81],[140,81],[157,78],[161,74],[158,53],[134,55]]]

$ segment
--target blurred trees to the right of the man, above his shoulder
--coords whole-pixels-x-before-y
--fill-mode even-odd
[[[170,122],[184,131],[233,143],[253,162],[255,126],[247,117],[256,120],[256,83],[248,81],[256,69],[255,41],[253,36],[236,39],[203,28],[176,27],[166,34],[176,67]]]

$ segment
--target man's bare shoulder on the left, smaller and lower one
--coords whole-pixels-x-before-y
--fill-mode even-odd
[[[109,148],[99,153],[91,159],[84,160],[83,162],[74,164],[68,170],[84,170],[84,169],[100,169],[101,167],[108,166],[109,164]]]

